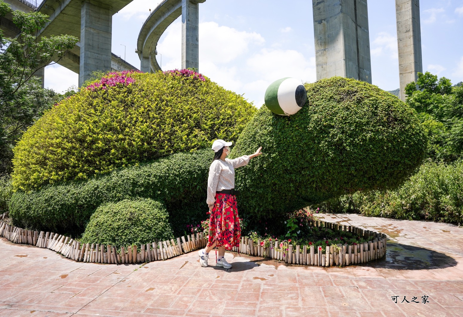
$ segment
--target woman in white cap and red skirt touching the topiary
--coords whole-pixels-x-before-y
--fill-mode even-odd
[[[262,147],[260,147],[252,155],[243,155],[230,160],[226,158],[230,154],[230,145],[232,145],[232,142],[225,142],[224,140],[215,140],[212,144],[215,155],[207,179],[207,205],[211,213],[209,240],[206,248],[198,251],[200,264],[204,267],[207,267],[209,251],[215,246],[219,247],[219,255],[215,266],[226,269],[232,267],[224,256],[225,249],[232,250],[233,246],[239,246],[241,240],[241,228],[234,190],[235,168],[247,165],[251,158],[262,154]]]

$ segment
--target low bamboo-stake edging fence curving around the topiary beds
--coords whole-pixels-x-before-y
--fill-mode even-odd
[[[207,237],[203,233],[183,236],[177,239],[147,243],[146,245],[132,245],[116,248],[110,245],[98,243],[81,244],[72,238],[44,231],[31,231],[6,224],[0,220],[0,236],[14,243],[29,244],[40,248],[48,248],[63,254],[68,259],[78,262],[130,264],[146,263],[158,260],[166,260],[183,253],[192,252],[206,247]],[[386,234],[364,230],[355,226],[342,226],[327,221],[313,221],[311,226],[327,227],[332,230],[355,233],[364,238],[373,236],[372,241],[347,245],[338,244],[322,247],[314,246],[288,246],[285,251],[274,241],[269,246],[261,246],[261,240],[253,241],[248,237],[241,238],[239,247],[233,247],[232,252],[239,252],[250,256],[275,259],[288,264],[312,265],[312,266],[348,266],[367,263],[386,256]],[[280,243],[279,241],[277,242]]]

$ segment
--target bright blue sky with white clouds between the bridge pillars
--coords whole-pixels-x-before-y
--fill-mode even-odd
[[[137,67],[140,27],[160,0],[134,0],[113,16],[113,52]],[[399,88],[395,1],[368,2],[373,84]],[[421,0],[423,71],[463,81],[463,0]],[[125,47],[126,52],[124,52]],[[181,21],[158,42],[163,70],[181,67]],[[162,60],[161,60],[162,59]],[[206,0],[200,4],[200,72],[257,107],[267,86],[282,77],[313,82],[312,1]],[[78,76],[61,66],[45,69],[45,87],[65,91]]]

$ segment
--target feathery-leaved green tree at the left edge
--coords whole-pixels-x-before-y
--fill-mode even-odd
[[[10,13],[0,0],[0,19]],[[58,61],[78,39],[69,35],[40,37],[48,16],[13,11],[19,28],[16,38],[6,38],[0,30],[0,174],[11,172],[13,147],[19,136],[53,105],[55,93],[41,88],[34,73]]]

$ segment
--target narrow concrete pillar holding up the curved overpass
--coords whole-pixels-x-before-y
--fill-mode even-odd
[[[199,69],[199,4],[206,0],[181,0],[181,68]]]

